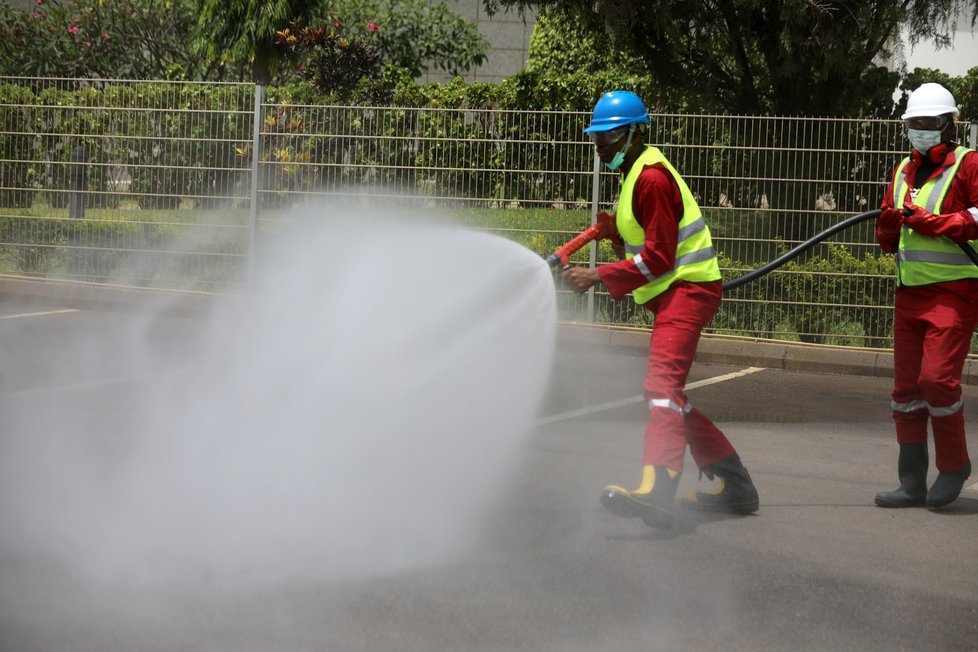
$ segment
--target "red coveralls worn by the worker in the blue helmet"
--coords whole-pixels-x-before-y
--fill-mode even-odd
[[[632,194],[632,211],[645,229],[642,259],[653,275],[665,274],[676,262],[683,201],[672,175],[663,166],[642,171]],[[648,283],[630,259],[602,265],[598,273],[616,299]],[[722,292],[720,281],[677,281],[644,305],[655,315],[643,385],[645,398],[667,399],[685,416],[673,407],[649,409],[643,465],[682,471],[686,444],[700,468],[735,452],[726,436],[689,404],[683,392],[700,333],[719,308]]]

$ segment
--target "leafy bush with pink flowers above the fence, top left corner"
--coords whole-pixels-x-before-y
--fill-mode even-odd
[[[36,0],[0,5],[0,74],[105,79],[206,77],[184,39],[195,0]]]

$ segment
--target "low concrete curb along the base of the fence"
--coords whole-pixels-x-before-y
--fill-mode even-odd
[[[597,345],[644,356],[650,329],[561,322],[558,341],[570,345]],[[696,352],[700,363],[764,367],[785,371],[893,377],[893,351],[856,347],[800,344],[773,340],[704,335]],[[978,385],[978,356],[965,361],[961,382]]]

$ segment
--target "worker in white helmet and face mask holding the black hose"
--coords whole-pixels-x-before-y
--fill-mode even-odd
[[[940,84],[911,93],[903,119],[910,156],[895,168],[876,221],[895,253],[893,420],[900,487],[880,507],[939,508],[971,474],[961,371],[978,324],[978,267],[962,249],[978,242],[978,155],[954,141],[958,108]],[[927,490],[927,422],[937,479]]]

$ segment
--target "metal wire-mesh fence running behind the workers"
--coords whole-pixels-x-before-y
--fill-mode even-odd
[[[588,115],[298,102],[252,84],[0,78],[0,272],[246,291],[265,234],[309,202],[425,207],[552,251],[614,201]],[[978,140],[961,125],[962,142]],[[655,115],[726,279],[879,205],[899,121]],[[606,245],[583,263],[611,259]],[[728,293],[711,330],[889,346],[892,257],[849,229]],[[565,319],[647,323],[559,290]]]

